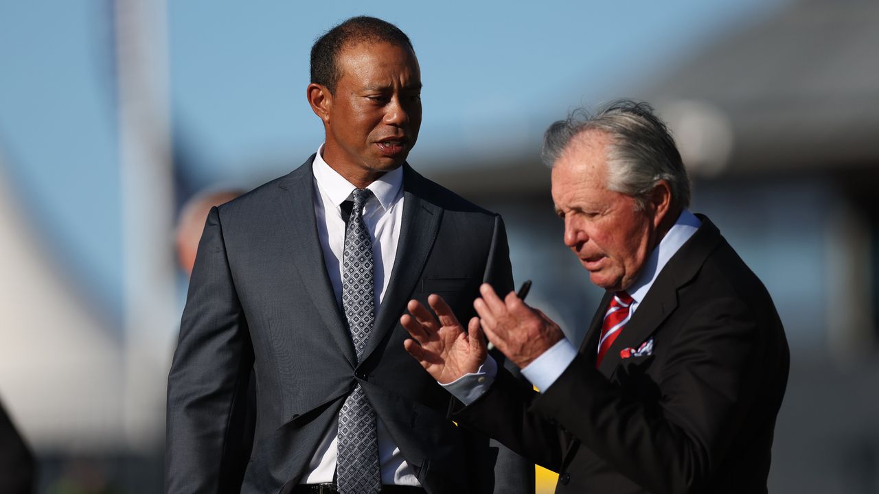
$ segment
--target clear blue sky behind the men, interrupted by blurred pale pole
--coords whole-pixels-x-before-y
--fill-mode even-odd
[[[633,91],[783,0],[167,5],[171,127],[193,185],[255,185],[322,141],[304,98],[311,43],[352,15],[410,35],[424,123],[410,163],[538,145],[570,108]],[[122,289],[112,4],[0,0],[0,179],[99,303]],[[443,164],[446,165],[446,164]],[[111,309],[114,310],[114,309]]]

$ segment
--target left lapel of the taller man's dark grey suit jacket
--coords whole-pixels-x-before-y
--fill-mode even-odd
[[[290,255],[300,273],[303,285],[307,287],[303,291],[307,292],[306,296],[314,301],[315,307],[323,317],[326,331],[330,332],[345,355],[345,359],[355,366],[357,358],[354,346],[338,308],[336,294],[332,289],[326,264],[323,262],[320,238],[317,236],[315,188],[311,173],[314,157],[311,156],[301,167],[280,181],[279,187],[285,191],[281,195],[286,199],[281,200],[280,208],[289,227],[280,229],[280,235],[287,236],[285,242],[289,245]]]

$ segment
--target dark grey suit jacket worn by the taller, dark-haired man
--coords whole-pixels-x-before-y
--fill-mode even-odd
[[[511,290],[504,223],[403,165],[396,262],[358,363],[318,240],[313,159],[208,215],[168,380],[166,491],[293,489],[357,382],[428,492],[527,491],[524,459],[446,417],[399,324],[412,298],[442,294],[470,316],[483,281]]]

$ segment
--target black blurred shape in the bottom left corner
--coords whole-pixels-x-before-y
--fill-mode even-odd
[[[0,492],[30,494],[35,480],[33,454],[0,402]]]

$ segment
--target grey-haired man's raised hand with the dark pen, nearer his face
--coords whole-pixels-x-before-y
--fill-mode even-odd
[[[558,324],[541,310],[528,307],[513,292],[501,300],[487,283],[479,287],[479,292],[483,296],[473,301],[473,307],[483,331],[519,368],[526,367],[564,338]]]

